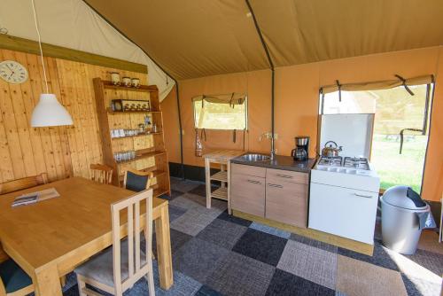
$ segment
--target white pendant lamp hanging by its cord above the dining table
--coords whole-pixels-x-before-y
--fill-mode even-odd
[[[44,83],[46,85],[46,93],[40,95],[40,99],[32,113],[31,126],[34,128],[42,128],[72,125],[73,119],[71,115],[69,115],[65,107],[58,102],[56,95],[49,93],[48,79],[46,78],[46,68],[43,60],[42,40],[37,24],[37,16],[35,14],[35,3],[34,0],[31,0],[31,2],[34,12],[35,29],[38,35],[38,45],[40,47],[40,58],[42,58]]]

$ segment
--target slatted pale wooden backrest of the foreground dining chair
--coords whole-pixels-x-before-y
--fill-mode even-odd
[[[144,225],[140,223],[141,202],[145,201]],[[121,280],[120,261],[120,212],[127,211],[128,215],[128,278]],[[128,199],[120,200],[111,206],[113,220],[113,279],[115,294],[121,295],[128,287],[136,283],[138,279],[149,271],[148,262],[152,260],[152,189],[141,191]],[[124,216],[124,215],[123,215]],[[124,219],[124,218],[123,218]],[[145,264],[142,266],[142,254],[140,253],[140,231],[144,227],[146,239]],[[135,245],[134,245],[135,244]],[[135,252],[135,253],[134,253]]]

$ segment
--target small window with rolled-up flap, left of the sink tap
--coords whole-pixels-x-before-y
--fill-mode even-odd
[[[245,94],[193,97],[196,129],[247,129]]]

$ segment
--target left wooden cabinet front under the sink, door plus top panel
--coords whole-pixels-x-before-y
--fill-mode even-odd
[[[263,167],[231,165],[230,198],[233,209],[265,216],[265,175],[266,168]]]

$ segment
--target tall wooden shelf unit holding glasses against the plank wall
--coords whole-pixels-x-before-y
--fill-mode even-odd
[[[94,78],[100,136],[104,163],[113,167],[113,184],[120,186],[124,171],[131,167],[142,171],[152,171],[154,197],[170,194],[169,165],[163,135],[163,113],[159,106],[159,90],[155,85],[141,85],[140,88],[115,86],[111,82]],[[113,99],[149,100],[152,111],[113,112],[110,109]],[[150,116],[159,132],[136,136],[111,137],[111,129],[137,129],[144,123],[144,116]],[[115,152],[136,151],[133,160],[116,161]]]

